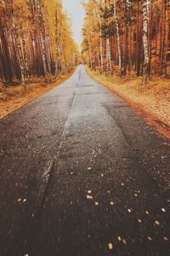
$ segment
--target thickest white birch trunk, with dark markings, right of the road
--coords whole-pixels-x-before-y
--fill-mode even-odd
[[[144,70],[142,84],[145,84],[148,79],[150,58],[148,47],[148,18],[149,18],[149,0],[142,0],[142,15],[143,15],[143,45],[144,45]]]

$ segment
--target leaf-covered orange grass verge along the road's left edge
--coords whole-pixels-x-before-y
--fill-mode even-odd
[[[26,85],[6,85],[0,84],[0,119],[8,113],[12,113],[15,109],[26,105],[37,96],[41,96],[48,90],[54,89],[57,85],[69,79],[74,73],[75,68],[71,73],[61,75],[58,79],[44,82],[44,79],[32,78],[31,82]]]

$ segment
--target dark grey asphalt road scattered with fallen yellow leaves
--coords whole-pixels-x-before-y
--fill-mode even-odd
[[[0,134],[1,256],[170,255],[170,143],[84,67]]]

